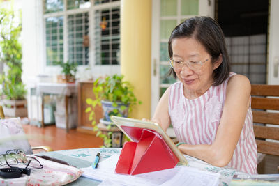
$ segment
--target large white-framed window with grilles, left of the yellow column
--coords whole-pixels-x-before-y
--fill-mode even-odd
[[[47,66],[54,61],[88,65],[89,59],[119,65],[120,1],[114,1],[44,0]]]

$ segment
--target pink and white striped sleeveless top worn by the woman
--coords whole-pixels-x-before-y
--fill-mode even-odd
[[[229,77],[235,75],[231,73]],[[183,95],[183,84],[172,84],[169,93],[169,116],[179,142],[186,144],[212,144],[225,103],[227,81],[219,86],[211,86],[204,95],[188,100]],[[233,124],[233,123],[232,123]],[[257,144],[249,107],[241,136],[234,150],[232,160],[227,164],[246,173],[257,173]]]

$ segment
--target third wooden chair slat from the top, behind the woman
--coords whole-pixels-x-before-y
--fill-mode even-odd
[[[279,113],[252,111],[252,114],[254,123],[279,125]]]

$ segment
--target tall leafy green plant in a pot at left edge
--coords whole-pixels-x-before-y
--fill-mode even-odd
[[[22,45],[19,42],[22,29],[15,21],[13,10],[0,8],[0,62],[6,66],[1,72],[0,84],[3,110],[6,116],[27,116],[27,90],[22,83]]]

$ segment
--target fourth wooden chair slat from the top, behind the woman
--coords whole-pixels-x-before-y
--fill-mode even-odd
[[[279,128],[254,125],[255,137],[279,140]]]

